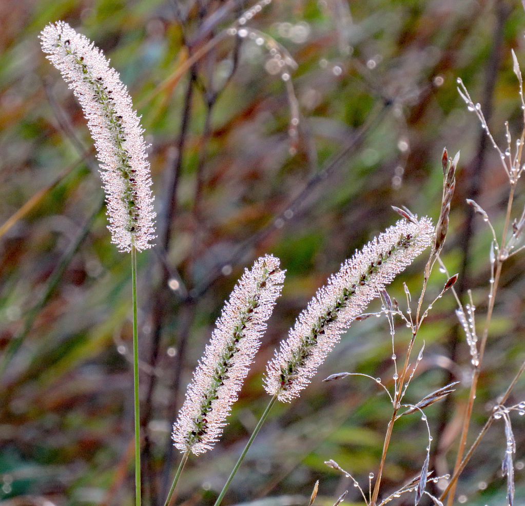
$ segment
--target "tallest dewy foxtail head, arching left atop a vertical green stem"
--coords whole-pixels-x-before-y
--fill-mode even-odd
[[[67,23],[46,26],[40,39],[88,120],[101,162],[112,243],[121,251],[150,248],[156,237],[150,164],[127,88],[102,51]]]

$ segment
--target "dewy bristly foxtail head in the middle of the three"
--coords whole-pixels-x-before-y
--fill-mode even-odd
[[[222,434],[284,279],[279,259],[271,255],[259,258],[251,271],[245,270],[217,320],[216,330],[188,386],[173,427],[179,450],[202,454]]]

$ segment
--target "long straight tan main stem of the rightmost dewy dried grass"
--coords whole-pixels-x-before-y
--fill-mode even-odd
[[[467,444],[467,434],[468,434],[468,427],[470,424],[470,418],[472,416],[472,408],[474,407],[474,400],[476,398],[476,388],[478,384],[478,378],[479,374],[481,372],[481,362],[483,360],[483,355],[485,353],[485,346],[487,344],[487,338],[489,333],[489,324],[492,319],[492,310],[494,309],[494,301],[496,299],[496,291],[498,290],[498,283],[499,278],[501,275],[501,267],[503,266],[503,261],[505,260],[505,251],[506,251],[506,237],[507,237],[507,230],[509,227],[509,221],[510,221],[510,212],[512,208],[512,201],[514,198],[514,188],[515,185],[511,184],[510,186],[510,194],[509,194],[509,201],[507,203],[507,215],[505,216],[505,226],[503,226],[503,233],[501,237],[501,250],[500,254],[497,258],[497,265],[496,265],[496,275],[494,277],[494,282],[492,283],[492,286],[490,287],[490,299],[489,299],[489,306],[487,309],[487,318],[485,320],[485,328],[483,329],[483,335],[481,338],[481,344],[479,346],[479,356],[478,356],[478,363],[474,369],[474,375],[472,376],[472,383],[470,385],[470,394],[468,398],[468,405],[467,410],[465,412],[465,418],[463,420],[463,430],[461,431],[461,439],[459,441],[459,448],[458,448],[458,455],[456,458],[456,465],[454,466],[454,473],[453,473],[453,479],[450,480],[449,487],[449,493],[448,493],[448,499],[447,499],[447,506],[451,506],[451,504],[454,501],[454,494],[456,492],[456,486],[457,486],[457,478],[459,476],[459,468],[461,467],[461,462],[463,461],[463,453],[465,451],[465,446]]]

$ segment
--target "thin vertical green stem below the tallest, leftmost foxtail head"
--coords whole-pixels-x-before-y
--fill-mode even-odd
[[[135,504],[140,506],[140,410],[139,331],[137,326],[137,250],[131,246],[131,291],[133,300],[133,399],[135,405]]]

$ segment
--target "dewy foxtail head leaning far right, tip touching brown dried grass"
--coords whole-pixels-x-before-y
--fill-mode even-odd
[[[433,238],[430,219],[400,220],[346,260],[299,315],[268,363],[266,391],[282,402],[298,397],[350,323]]]

